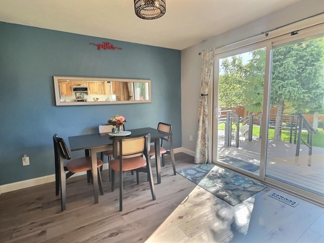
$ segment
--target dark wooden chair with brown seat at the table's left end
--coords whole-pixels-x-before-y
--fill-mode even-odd
[[[55,185],[56,185],[56,195],[61,191],[61,210],[65,211],[66,205],[66,179],[77,172],[85,172],[92,169],[91,157],[79,157],[76,159],[71,159],[70,152],[66,146],[63,138],[54,134],[54,153],[55,153]],[[64,161],[68,160],[64,166]],[[102,160],[97,158],[97,168],[98,168],[98,185],[101,195],[103,195],[101,174],[99,167],[102,166]]]

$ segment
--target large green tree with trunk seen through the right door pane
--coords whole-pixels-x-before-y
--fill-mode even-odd
[[[271,105],[277,106],[274,139],[280,140],[284,106],[292,114],[319,111],[323,106],[324,38],[273,49]]]

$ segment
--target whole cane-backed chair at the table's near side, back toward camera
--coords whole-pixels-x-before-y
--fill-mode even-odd
[[[123,173],[136,171],[137,184],[139,172],[148,173],[152,199],[155,200],[154,183],[148,148],[150,134],[131,137],[116,137],[113,140],[113,160],[109,161],[111,168],[111,190],[114,190],[115,172],[119,172],[119,211],[123,211]],[[145,156],[145,159],[143,158]]]

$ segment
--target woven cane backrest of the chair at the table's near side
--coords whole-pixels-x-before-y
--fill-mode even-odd
[[[150,134],[143,134],[131,137],[116,137],[113,139],[113,157],[130,158],[136,156],[147,157],[149,150],[149,143],[151,140]]]

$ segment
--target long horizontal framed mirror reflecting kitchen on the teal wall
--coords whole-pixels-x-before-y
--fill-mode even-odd
[[[151,102],[151,80],[53,76],[56,105]]]

